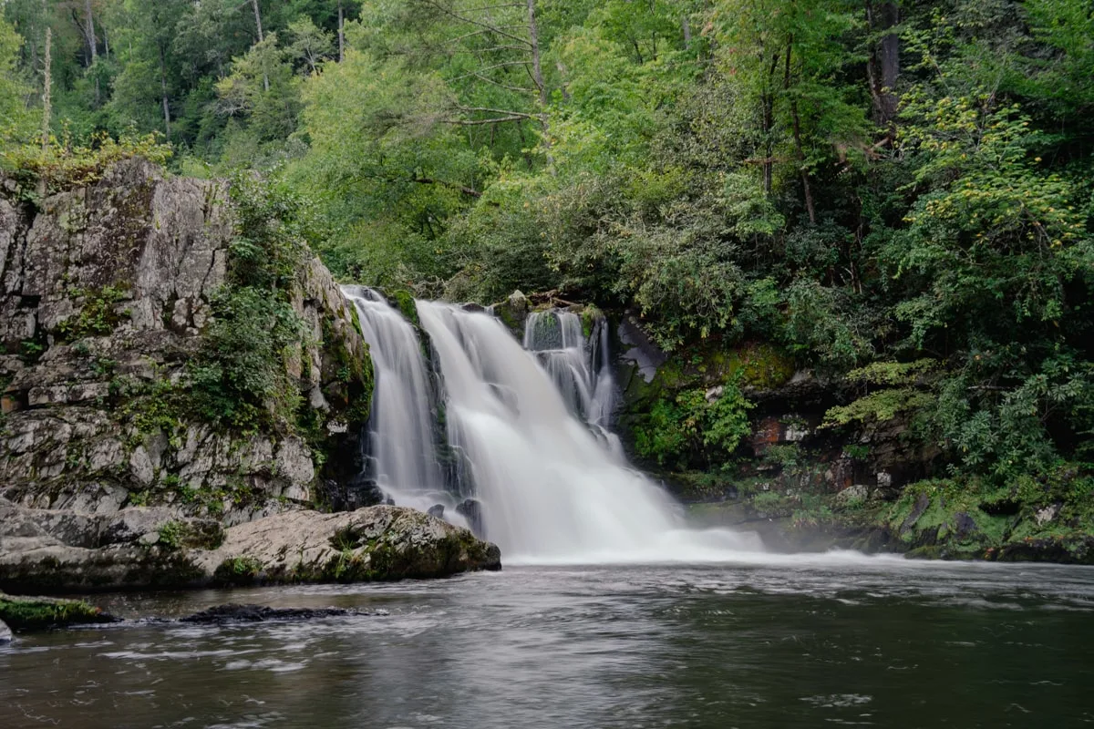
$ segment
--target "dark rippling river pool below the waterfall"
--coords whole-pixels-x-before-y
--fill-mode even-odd
[[[98,596],[375,614],[0,648],[0,727],[1078,727],[1094,569],[795,556]]]

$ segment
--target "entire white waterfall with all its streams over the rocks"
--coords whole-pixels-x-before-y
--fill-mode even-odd
[[[710,561],[760,549],[754,537],[687,529],[675,502],[627,463],[608,431],[616,388],[603,320],[586,339],[575,314],[533,314],[522,346],[490,314],[417,302],[434,384],[416,328],[369,289],[344,293],[375,374],[368,475],[396,504],[440,504],[443,518],[468,526],[443,448],[458,455],[461,486],[479,503],[476,526],[511,564]]]

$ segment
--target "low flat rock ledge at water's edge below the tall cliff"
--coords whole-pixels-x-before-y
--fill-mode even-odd
[[[497,569],[496,545],[412,509],[293,510],[224,529],[170,509],[114,515],[0,501],[0,588],[63,592],[444,577]]]

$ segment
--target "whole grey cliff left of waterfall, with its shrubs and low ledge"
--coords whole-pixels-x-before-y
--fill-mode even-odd
[[[243,210],[223,181],[170,177],[141,160],[35,203],[0,184],[9,522],[0,583],[201,583],[220,562],[251,558],[236,544],[216,564],[207,556],[208,568],[194,566],[188,550],[212,553],[225,528],[375,503],[359,482],[368,345],[329,272],[286,221],[260,204]],[[446,527],[417,525],[415,543],[449,539]],[[333,539],[324,528],[307,539]],[[291,539],[275,541],[292,551]],[[473,552],[488,546],[469,532],[459,540]],[[353,574],[470,568],[445,560]],[[300,577],[328,576],[322,566]]]

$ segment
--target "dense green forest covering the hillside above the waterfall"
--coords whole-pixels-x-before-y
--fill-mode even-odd
[[[31,203],[135,154],[257,176],[342,281],[630,309],[674,357],[763,342],[955,479],[1091,472],[1089,0],[2,9]]]

